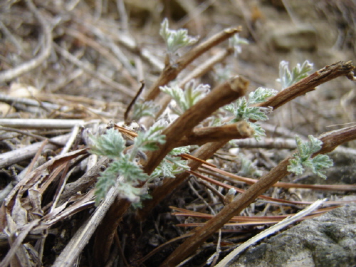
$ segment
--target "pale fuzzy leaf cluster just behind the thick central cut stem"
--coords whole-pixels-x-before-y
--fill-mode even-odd
[[[210,86],[199,84],[195,87],[194,82],[187,83],[184,90],[177,85],[161,86],[159,89],[163,93],[167,93],[177,103],[176,107],[172,108],[172,111],[177,115],[182,115],[186,110],[196,104],[201,98],[209,92]]]

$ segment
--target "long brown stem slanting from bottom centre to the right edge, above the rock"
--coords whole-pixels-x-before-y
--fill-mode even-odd
[[[320,140],[323,142],[320,152],[316,152],[313,156],[320,153],[330,152],[338,145],[344,142],[356,139],[356,126],[348,127],[336,132],[327,132],[322,135]],[[180,245],[161,266],[177,266],[178,263],[187,258],[187,256],[194,253],[194,251],[206,241],[206,239],[219,230],[224,224],[226,224],[234,215],[239,214],[246,206],[251,204],[256,197],[273,186],[280,179],[288,174],[287,167],[289,159],[287,157],[283,159],[276,167],[271,169],[268,174],[261,177],[256,184],[253,184],[244,194],[241,194],[230,204],[226,205],[219,214],[210,219],[204,226],[194,229],[194,235],[190,236],[182,245]]]

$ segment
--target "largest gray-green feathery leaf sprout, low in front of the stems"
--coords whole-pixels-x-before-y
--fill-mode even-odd
[[[165,136],[161,134],[163,129],[164,125],[155,122],[146,132],[139,132],[130,150],[125,150],[126,141],[114,128],[108,129],[103,135],[90,136],[90,152],[112,159],[109,167],[100,172],[98,182],[95,184],[97,205],[105,198],[109,189],[117,185],[117,194],[138,207],[142,198],[149,197],[147,182],[157,177],[174,177],[184,169],[189,169],[188,161],[177,157],[182,153],[188,153],[189,148],[177,147],[164,157],[151,175],[143,172],[137,161],[137,155],[157,150],[158,145],[164,144]]]

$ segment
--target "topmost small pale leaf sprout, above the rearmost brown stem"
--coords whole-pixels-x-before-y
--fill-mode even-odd
[[[171,30],[168,28],[168,19],[164,19],[159,29],[159,35],[162,36],[167,45],[168,53],[175,53],[179,48],[185,46],[191,46],[197,43],[198,39],[188,35],[188,31],[185,28],[179,28]]]

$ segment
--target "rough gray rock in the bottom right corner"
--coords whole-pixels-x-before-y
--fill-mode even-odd
[[[228,266],[356,266],[356,204],[305,220],[248,248]]]

